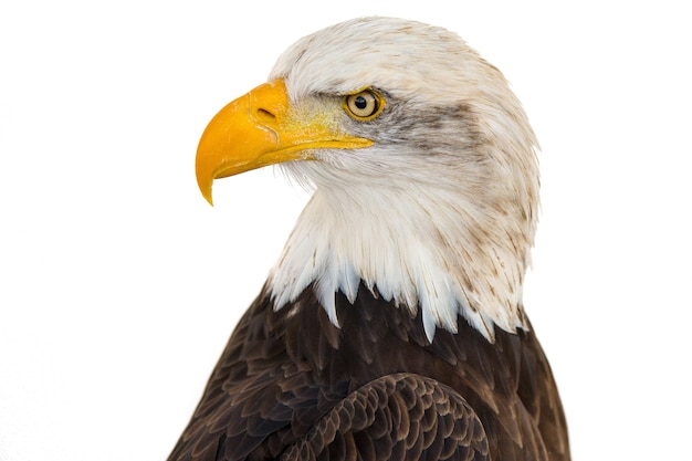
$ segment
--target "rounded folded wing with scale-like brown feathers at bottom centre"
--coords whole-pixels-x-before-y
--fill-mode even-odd
[[[281,461],[490,460],[483,425],[464,399],[413,374],[355,390],[286,449]]]

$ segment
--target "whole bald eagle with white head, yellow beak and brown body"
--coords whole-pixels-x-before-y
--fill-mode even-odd
[[[314,195],[169,460],[569,460],[522,305],[536,139],[457,34],[305,36],[209,123],[196,172],[281,164]]]

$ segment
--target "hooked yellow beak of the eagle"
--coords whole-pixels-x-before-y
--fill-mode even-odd
[[[334,117],[325,113],[301,116],[291,108],[283,80],[275,80],[233,101],[211,119],[197,148],[197,184],[212,205],[217,178],[282,161],[311,160],[310,149],[371,145],[369,139],[339,132]]]

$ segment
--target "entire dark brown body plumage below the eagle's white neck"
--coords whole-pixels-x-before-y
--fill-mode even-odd
[[[263,291],[169,461],[569,460],[532,332],[491,344],[460,318],[430,344],[420,314],[363,285],[353,305],[337,294],[337,313],[340,329],[312,287],[277,312]]]

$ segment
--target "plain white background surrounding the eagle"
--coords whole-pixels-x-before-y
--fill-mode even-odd
[[[575,459],[688,459],[686,7],[237,3],[0,7],[0,460],[167,457],[306,199],[266,169],[209,207],[199,136],[296,39],[366,14],[459,32],[526,107],[543,214],[525,304]]]

